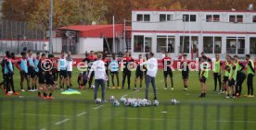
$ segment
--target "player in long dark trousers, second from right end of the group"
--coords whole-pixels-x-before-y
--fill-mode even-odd
[[[246,79],[246,74],[243,72],[245,65],[238,60],[238,56],[235,55],[235,64],[237,66],[237,83],[236,83],[236,96],[239,97],[242,92],[243,82]]]

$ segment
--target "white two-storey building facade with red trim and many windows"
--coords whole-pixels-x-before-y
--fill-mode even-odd
[[[132,12],[132,55],[163,52],[173,57],[187,53],[195,59],[205,52],[256,54],[256,12],[251,11],[160,11]]]

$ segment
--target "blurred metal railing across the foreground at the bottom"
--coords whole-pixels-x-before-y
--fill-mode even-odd
[[[0,98],[0,129],[250,130],[256,104],[160,102],[160,106],[114,107],[88,100]]]

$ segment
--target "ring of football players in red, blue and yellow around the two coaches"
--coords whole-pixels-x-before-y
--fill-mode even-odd
[[[126,52],[122,58],[118,58],[115,53],[111,53],[111,57],[107,58],[107,54],[103,53],[102,58],[105,65],[105,73],[108,79],[108,89],[124,89],[126,78],[127,78],[127,89],[131,89],[131,77],[134,71],[134,89],[142,89],[143,79],[147,84],[147,73],[150,53],[146,53],[145,57],[142,54],[138,55],[138,58],[134,60],[130,53]],[[151,53],[151,57],[154,54]],[[201,53],[201,57],[198,58],[199,69],[198,77],[201,85],[201,94],[199,98],[206,97],[206,80],[209,77],[210,70],[212,71],[214,78],[214,90],[217,91],[219,85],[220,94],[224,94],[224,98],[236,98],[241,95],[242,84],[247,78],[248,94],[247,97],[253,97],[253,77],[255,74],[254,62],[250,59],[250,54],[246,55],[246,61],[239,61],[238,56],[226,55],[225,62],[222,62],[219,54],[215,54],[215,60],[208,58],[205,53]],[[85,53],[83,59],[83,66],[85,69],[77,77],[77,83],[79,89],[85,89],[88,83],[89,89],[95,89],[93,85],[93,78],[95,77],[95,71],[92,71],[92,65],[98,60],[96,54],[91,51]],[[178,60],[183,78],[184,90],[188,89],[188,77],[189,77],[189,65],[190,60],[187,59],[187,55],[183,54],[181,59]],[[164,77],[164,89],[168,89],[168,77],[170,77],[171,89],[173,90],[173,59],[170,53],[164,53],[164,57],[161,59],[163,67]],[[20,91],[25,91],[23,88],[23,82],[27,82],[28,91],[37,91],[38,96],[45,99],[52,99],[52,94],[55,89],[58,88],[63,90],[65,86],[67,89],[72,88],[72,66],[74,65],[71,53],[62,52],[59,58],[56,58],[53,54],[48,54],[46,57],[45,53],[36,53],[33,57],[32,50],[28,52],[22,52],[21,58],[17,59],[14,53],[6,52],[6,57],[1,62],[2,73],[4,81],[0,84],[0,87],[4,87],[6,96],[19,95],[14,88],[14,66],[17,66],[20,72]],[[210,66],[211,65],[211,66]],[[158,65],[159,66],[159,65]],[[247,70],[247,74],[244,72]],[[120,86],[119,73],[122,71],[122,86]],[[157,72],[157,71],[156,71]],[[155,71],[154,71],[155,73]],[[90,76],[89,76],[90,74]],[[109,75],[111,85],[109,83]],[[223,76],[223,81],[222,81]],[[59,77],[59,83],[58,83]],[[115,83],[116,77],[116,83]],[[148,77],[150,78],[150,77]],[[154,79],[155,80],[155,79]],[[149,80],[152,82],[154,80]],[[139,81],[139,84],[137,85]],[[155,96],[156,99],[156,96]]]

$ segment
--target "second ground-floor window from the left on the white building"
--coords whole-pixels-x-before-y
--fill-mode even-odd
[[[174,53],[175,38],[172,36],[158,36],[157,53]]]

